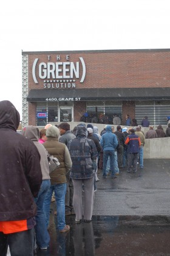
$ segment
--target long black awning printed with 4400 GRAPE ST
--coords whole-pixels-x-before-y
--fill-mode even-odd
[[[170,88],[32,89],[27,96],[28,102],[166,99]]]

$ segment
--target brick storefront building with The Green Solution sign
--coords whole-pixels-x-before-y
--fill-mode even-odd
[[[170,49],[22,52],[22,125],[170,116]]]

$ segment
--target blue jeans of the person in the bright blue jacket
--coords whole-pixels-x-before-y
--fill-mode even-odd
[[[115,167],[114,167],[114,162],[115,162],[115,151],[114,150],[105,150],[103,151],[103,176],[106,176],[106,167],[107,167],[107,160],[108,157],[110,157],[110,170],[112,172],[112,176],[115,175]]]

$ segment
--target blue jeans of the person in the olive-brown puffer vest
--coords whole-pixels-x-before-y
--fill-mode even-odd
[[[44,213],[46,214],[46,226],[49,226],[50,217],[50,203],[52,193],[55,193],[56,210],[57,210],[57,221],[58,229],[64,229],[66,226],[65,222],[65,195],[66,195],[67,183],[63,184],[52,184],[47,192],[46,199],[44,201]]]

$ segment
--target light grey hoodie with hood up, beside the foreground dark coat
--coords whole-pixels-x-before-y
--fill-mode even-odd
[[[44,179],[50,179],[49,175],[49,164],[47,160],[47,154],[44,146],[38,142],[40,132],[38,127],[29,125],[26,128],[24,128],[23,135],[30,140],[33,141],[36,148],[39,151],[39,154],[41,156],[40,165],[41,165],[41,172],[42,172],[42,180]]]

